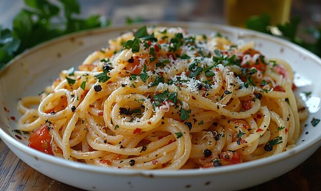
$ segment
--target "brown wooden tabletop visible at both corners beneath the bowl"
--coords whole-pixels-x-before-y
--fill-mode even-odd
[[[0,190],[81,189],[55,181],[35,171],[18,159],[0,139]],[[291,172],[244,190],[321,190],[321,147]]]

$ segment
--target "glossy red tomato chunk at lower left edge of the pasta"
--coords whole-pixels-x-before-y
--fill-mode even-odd
[[[51,136],[46,125],[37,129],[29,138],[28,146],[35,148],[38,151],[53,155],[51,151]]]

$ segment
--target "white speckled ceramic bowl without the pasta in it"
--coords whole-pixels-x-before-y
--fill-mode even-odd
[[[149,26],[151,24],[148,24]],[[256,161],[207,169],[180,171],[140,171],[102,168],[66,161],[28,147],[26,135],[15,137],[16,119],[21,115],[16,102],[27,95],[42,92],[58,77],[59,71],[78,66],[84,58],[107,46],[107,40],[139,26],[112,27],[67,35],[39,45],[17,56],[0,72],[0,137],[28,165],[55,180],[91,190],[225,190],[254,186],[289,172],[310,157],[321,145],[321,123],[313,127],[313,117],[320,118],[321,59],[288,41],[245,29],[202,23],[155,23],[179,26],[190,33],[220,32],[232,41],[254,40],[256,49],[267,57],[288,61],[296,72],[297,93],[312,91],[306,100],[309,119],[292,150]],[[5,109],[7,111],[5,111]],[[308,132],[308,133],[306,133]]]

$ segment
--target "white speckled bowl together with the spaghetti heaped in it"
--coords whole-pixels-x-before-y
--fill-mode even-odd
[[[320,146],[320,71],[312,53],[239,28],[81,32],[0,73],[0,136],[37,171],[84,189],[241,189]]]

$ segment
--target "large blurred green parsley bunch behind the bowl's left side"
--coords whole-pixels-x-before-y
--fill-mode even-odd
[[[99,15],[79,18],[77,0],[25,0],[27,8],[13,19],[12,30],[0,26],[0,69],[16,55],[39,43],[71,32],[105,27]]]

